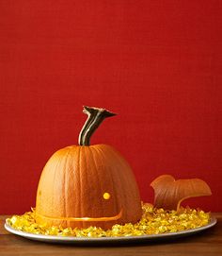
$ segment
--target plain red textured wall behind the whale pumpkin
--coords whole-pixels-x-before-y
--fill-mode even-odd
[[[35,206],[41,169],[77,143],[82,106],[119,113],[92,143],[131,163],[142,199],[161,174],[200,178],[222,211],[222,1],[0,0],[0,213]]]

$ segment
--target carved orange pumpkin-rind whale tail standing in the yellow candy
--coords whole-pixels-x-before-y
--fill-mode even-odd
[[[211,196],[208,184],[202,179],[178,179],[161,175],[151,182],[154,206],[165,210],[179,210],[182,200],[196,196]]]

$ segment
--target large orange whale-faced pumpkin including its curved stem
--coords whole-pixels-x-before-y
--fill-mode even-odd
[[[62,148],[43,168],[36,200],[36,221],[48,226],[109,229],[135,223],[141,201],[128,162],[110,145],[89,145],[104,118],[114,113],[84,107],[88,118],[79,145]]]

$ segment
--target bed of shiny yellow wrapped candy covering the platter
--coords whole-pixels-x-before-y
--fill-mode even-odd
[[[190,208],[181,208],[178,212],[165,211],[164,209],[155,209],[151,204],[142,203],[142,210],[143,215],[139,222],[125,225],[116,224],[110,230],[103,230],[97,227],[89,227],[87,229],[46,227],[36,223],[35,209],[32,209],[32,212],[24,213],[24,215],[13,215],[7,219],[7,223],[16,230],[35,234],[73,237],[115,237],[190,230],[205,226],[210,221],[210,213]]]

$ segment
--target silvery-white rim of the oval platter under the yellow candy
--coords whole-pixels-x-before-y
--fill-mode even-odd
[[[21,230],[15,230],[11,228],[8,223],[5,224],[6,230],[13,234],[23,236],[25,238],[56,244],[95,244],[95,243],[135,243],[135,242],[145,242],[145,241],[160,241],[163,239],[174,239],[182,236],[187,236],[191,234],[198,233],[202,230],[208,230],[216,224],[216,218],[212,217],[210,223],[206,226],[193,229],[193,230],[183,230],[178,232],[162,233],[162,234],[151,234],[151,235],[139,235],[139,236],[121,236],[121,237],[73,237],[73,236],[58,236],[58,235],[44,235],[44,234],[34,234],[28,233]]]

